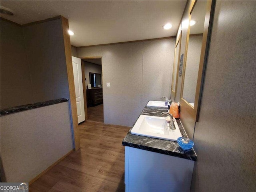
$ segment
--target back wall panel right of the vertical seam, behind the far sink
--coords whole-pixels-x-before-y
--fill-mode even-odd
[[[141,110],[148,100],[170,98],[174,49],[175,38],[144,42]]]

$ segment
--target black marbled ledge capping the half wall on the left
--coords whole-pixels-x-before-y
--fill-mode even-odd
[[[1,116],[9,115],[12,113],[17,113],[17,112],[21,112],[21,111],[25,111],[25,110],[40,108],[40,107],[44,107],[44,106],[54,105],[54,104],[58,104],[58,103],[63,103],[63,102],[67,102],[67,101],[68,101],[68,99],[61,98],[61,99],[44,101],[44,102],[39,102],[39,103],[34,103],[34,104],[27,104],[27,105],[22,105],[22,106],[11,107],[11,108],[1,110]]]

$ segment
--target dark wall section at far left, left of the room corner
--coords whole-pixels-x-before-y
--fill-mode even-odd
[[[1,20],[1,109],[33,102],[22,28]]]

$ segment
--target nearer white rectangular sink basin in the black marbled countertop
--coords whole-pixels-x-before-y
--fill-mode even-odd
[[[177,139],[182,136],[176,120],[174,121],[174,125],[176,128],[175,130],[170,130],[169,128],[166,130],[167,122],[165,117],[140,115],[134,124],[131,133],[135,135],[177,141]]]

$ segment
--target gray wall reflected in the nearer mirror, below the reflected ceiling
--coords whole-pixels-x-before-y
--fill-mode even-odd
[[[203,35],[198,35],[190,36],[188,39],[188,54],[182,98],[186,99],[189,103],[195,102],[202,38]]]

